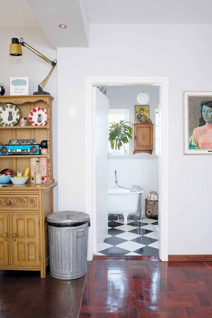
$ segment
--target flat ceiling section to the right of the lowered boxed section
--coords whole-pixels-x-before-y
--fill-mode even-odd
[[[86,0],[92,24],[211,24],[211,0]],[[210,12],[210,14],[208,14]]]

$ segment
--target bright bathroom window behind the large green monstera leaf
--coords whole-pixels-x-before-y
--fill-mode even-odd
[[[109,123],[115,121],[116,123],[120,120],[129,121],[129,109],[109,109]],[[128,156],[129,155],[129,143],[125,143],[124,147],[120,150],[112,150],[110,148],[110,142],[108,143],[109,156]]]

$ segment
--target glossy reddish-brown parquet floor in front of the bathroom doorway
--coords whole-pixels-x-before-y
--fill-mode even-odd
[[[212,262],[95,256],[89,262],[79,314],[88,317],[212,317]]]

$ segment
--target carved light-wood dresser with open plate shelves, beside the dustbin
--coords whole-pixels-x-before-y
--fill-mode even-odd
[[[0,171],[11,169],[13,172],[30,167],[30,158],[48,158],[48,179],[42,185],[30,183],[23,185],[9,183],[0,187],[0,269],[40,271],[46,277],[49,263],[48,228],[46,216],[53,213],[52,162],[52,100],[50,95],[1,96],[0,106],[16,104],[20,117],[29,117],[35,107],[47,109],[45,126],[0,126],[0,141],[7,144],[10,139],[35,139],[40,143],[47,140],[48,155],[1,155]]]

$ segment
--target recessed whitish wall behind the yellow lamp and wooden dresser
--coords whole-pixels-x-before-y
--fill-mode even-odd
[[[24,41],[49,59],[57,59],[57,52],[52,49],[46,35],[40,27],[0,28],[2,34],[0,81],[3,82],[5,95],[10,95],[10,77],[29,77],[29,90],[32,95],[38,90],[38,84],[49,73],[51,66],[22,47],[23,56],[9,55],[11,38],[24,38]],[[57,66],[56,66],[57,67]],[[53,174],[57,180],[57,70],[54,70],[44,90],[51,93],[53,100]],[[27,137],[27,136],[26,136]],[[57,211],[57,187],[54,187],[54,211]]]

